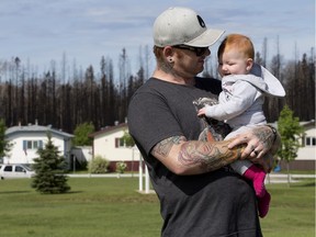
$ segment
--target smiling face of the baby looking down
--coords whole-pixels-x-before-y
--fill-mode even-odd
[[[218,72],[222,77],[227,75],[248,74],[248,58],[235,48],[225,50],[218,59]]]

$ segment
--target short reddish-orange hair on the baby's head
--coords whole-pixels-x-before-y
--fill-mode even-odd
[[[230,48],[238,49],[239,53],[244,54],[246,58],[255,58],[255,47],[249,37],[241,34],[229,34],[221,43],[217,57],[219,58],[225,50]]]

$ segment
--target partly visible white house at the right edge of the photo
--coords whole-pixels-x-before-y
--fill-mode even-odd
[[[290,162],[291,170],[315,170],[316,161],[316,127],[315,120],[300,123],[305,134],[301,139],[297,157]],[[286,169],[286,162],[281,162],[281,169]]]

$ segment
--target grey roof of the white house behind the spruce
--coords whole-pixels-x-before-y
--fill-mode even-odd
[[[19,125],[19,126],[9,127],[5,131],[5,136],[11,136],[11,135],[16,134],[16,133],[46,133],[48,131],[52,132],[52,134],[57,134],[57,135],[63,136],[63,137],[68,137],[68,138],[74,137],[72,134],[68,134],[68,133],[65,133],[63,131],[52,128],[52,126],[40,126],[37,124],[35,124],[35,125],[31,124],[27,126]]]

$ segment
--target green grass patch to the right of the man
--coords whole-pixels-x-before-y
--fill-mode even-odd
[[[272,195],[268,216],[261,221],[264,237],[315,236],[315,180],[268,184]]]

